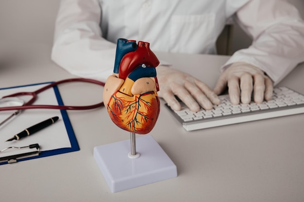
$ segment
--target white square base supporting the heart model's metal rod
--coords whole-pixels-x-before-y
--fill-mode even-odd
[[[177,177],[175,164],[152,138],[136,138],[138,158],[128,157],[130,140],[94,147],[94,158],[112,192]]]

